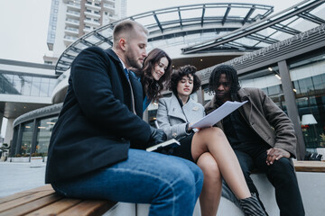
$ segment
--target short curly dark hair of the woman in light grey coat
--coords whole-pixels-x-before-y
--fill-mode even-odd
[[[191,65],[186,65],[183,67],[179,67],[172,73],[171,82],[169,85],[169,90],[172,91],[173,94],[177,95],[177,85],[180,82],[181,78],[183,76],[188,76],[190,78],[190,75],[193,76],[193,91],[190,94],[195,93],[200,88],[200,78],[195,73],[197,71],[197,68]]]

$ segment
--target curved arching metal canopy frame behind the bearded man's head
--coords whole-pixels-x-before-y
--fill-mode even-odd
[[[161,47],[163,42],[168,42],[169,45],[172,42],[181,43],[182,46],[195,45],[200,41],[215,38],[216,35],[235,31],[249,23],[265,19],[273,11],[273,6],[265,4],[191,4],[136,14],[123,20],[134,20],[144,24],[149,31],[148,48],[150,49]],[[90,46],[110,48],[113,44],[113,29],[118,22],[120,21],[91,31],[70,44],[61,54],[55,71],[61,74],[68,70],[73,59],[82,49]],[[169,40],[175,38],[181,40],[172,42]]]

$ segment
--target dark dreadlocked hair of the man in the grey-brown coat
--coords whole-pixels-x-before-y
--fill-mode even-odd
[[[231,96],[236,97],[237,92],[240,89],[240,85],[238,82],[237,70],[235,67],[230,65],[220,65],[212,70],[212,73],[209,76],[209,92],[213,93],[218,87],[218,81],[222,74],[225,74],[228,79]]]

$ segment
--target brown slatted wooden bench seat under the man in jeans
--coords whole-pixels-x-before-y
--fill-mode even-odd
[[[8,215],[102,215],[116,202],[68,199],[55,193],[51,184],[0,198],[0,216]]]

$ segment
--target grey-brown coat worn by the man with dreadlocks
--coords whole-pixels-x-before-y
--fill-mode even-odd
[[[248,122],[249,126],[265,140],[270,147],[282,148],[296,157],[297,139],[292,121],[262,90],[258,88],[240,88],[238,90],[240,102],[248,101],[239,112]],[[205,105],[206,112],[214,111],[216,96]],[[222,121],[217,126],[223,130]]]

